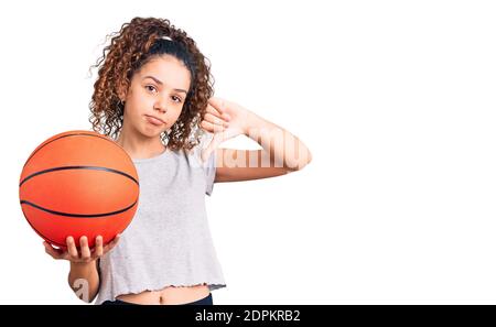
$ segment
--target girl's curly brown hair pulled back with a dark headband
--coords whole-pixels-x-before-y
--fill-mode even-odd
[[[171,41],[164,40],[169,36]],[[177,121],[170,133],[160,138],[171,150],[191,150],[200,143],[203,119],[208,99],[214,92],[211,62],[187,34],[165,19],[134,18],[122,24],[119,32],[108,34],[110,44],[91,68],[98,68],[94,94],[89,103],[89,122],[95,132],[117,140],[123,122],[123,103],[119,98],[131,84],[136,72],[152,58],[169,54],[190,70],[191,86]]]

